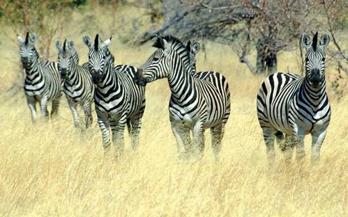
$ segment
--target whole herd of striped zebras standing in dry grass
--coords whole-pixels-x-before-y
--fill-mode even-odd
[[[62,92],[73,113],[75,127],[91,126],[91,104],[94,102],[102,132],[105,153],[114,143],[115,156],[123,153],[123,132],[128,128],[131,147],[137,149],[142,116],[145,109],[145,86],[167,78],[171,97],[169,120],[176,138],[179,156],[201,157],[204,131],[211,129],[213,153],[218,159],[225,124],[231,111],[231,95],[227,79],[219,72],[196,72],[195,55],[198,42],[184,45],[172,35],[155,35],[153,52],[139,68],[114,65],[109,51],[112,37],[94,41],[83,37],[89,48],[89,62],[79,65],[79,56],[72,41],[63,45],[56,40],[58,63],[41,61],[33,43],[35,33],[25,40],[18,36],[20,56],[26,72],[24,93],[33,122],[37,119],[36,103],[43,118],[48,118],[47,102],[52,102],[51,116],[59,109]],[[269,75],[257,94],[257,117],[264,134],[268,162],[275,158],[274,139],[285,159],[290,161],[296,147],[296,159],[303,159],[303,139],[312,135],[312,161],[319,160],[321,144],[330,122],[331,109],[326,95],[325,52],[328,34],[318,42],[303,33],[301,44],[306,47],[305,77],[290,73]],[[82,106],[85,126],[79,122],[77,106]],[[111,135],[110,135],[111,134]],[[192,134],[192,139],[191,139]]]

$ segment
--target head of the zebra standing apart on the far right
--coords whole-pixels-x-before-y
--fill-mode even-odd
[[[315,33],[313,40],[310,41],[308,34],[303,33],[301,44],[305,46],[305,77],[308,79],[310,86],[317,88],[325,80],[325,51],[330,37],[328,34],[321,35],[318,43],[318,33]]]

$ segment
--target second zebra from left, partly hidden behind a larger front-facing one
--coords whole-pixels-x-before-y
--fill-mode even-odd
[[[73,41],[63,43],[63,47],[56,40],[58,50],[58,68],[61,78],[64,80],[63,92],[66,94],[68,105],[73,113],[74,125],[80,127],[77,106],[82,106],[84,110],[84,120],[86,128],[92,124],[91,103],[93,102],[94,86],[92,77],[85,67],[78,65],[79,56],[73,48]]]

